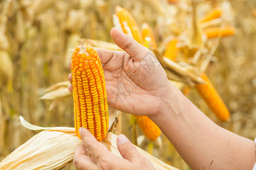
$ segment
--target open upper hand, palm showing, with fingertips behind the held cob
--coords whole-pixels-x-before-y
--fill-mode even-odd
[[[111,36],[124,51],[97,48],[104,69],[108,104],[119,111],[154,116],[162,109],[170,83],[154,54],[113,28]],[[68,76],[72,83],[72,75]],[[72,86],[69,86],[72,92]]]

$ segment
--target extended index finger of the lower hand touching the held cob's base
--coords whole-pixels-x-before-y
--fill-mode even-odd
[[[85,128],[79,129],[82,142],[86,148],[87,153],[92,156],[96,162],[102,162],[102,159],[108,158],[108,149]]]

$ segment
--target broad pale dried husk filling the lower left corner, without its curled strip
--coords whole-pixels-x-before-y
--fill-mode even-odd
[[[3,159],[0,169],[60,169],[72,162],[80,143],[75,128],[44,130]]]

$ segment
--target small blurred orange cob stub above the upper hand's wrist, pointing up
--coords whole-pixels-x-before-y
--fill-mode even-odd
[[[166,45],[166,50],[164,51],[163,56],[166,58],[171,59],[172,61],[175,61],[177,58],[177,39],[173,39],[169,41]]]

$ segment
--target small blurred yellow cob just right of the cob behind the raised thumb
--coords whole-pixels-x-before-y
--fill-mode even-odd
[[[150,26],[146,23],[142,24],[141,32],[144,40],[144,46],[150,49],[157,49],[158,46],[156,45],[155,37]]]

